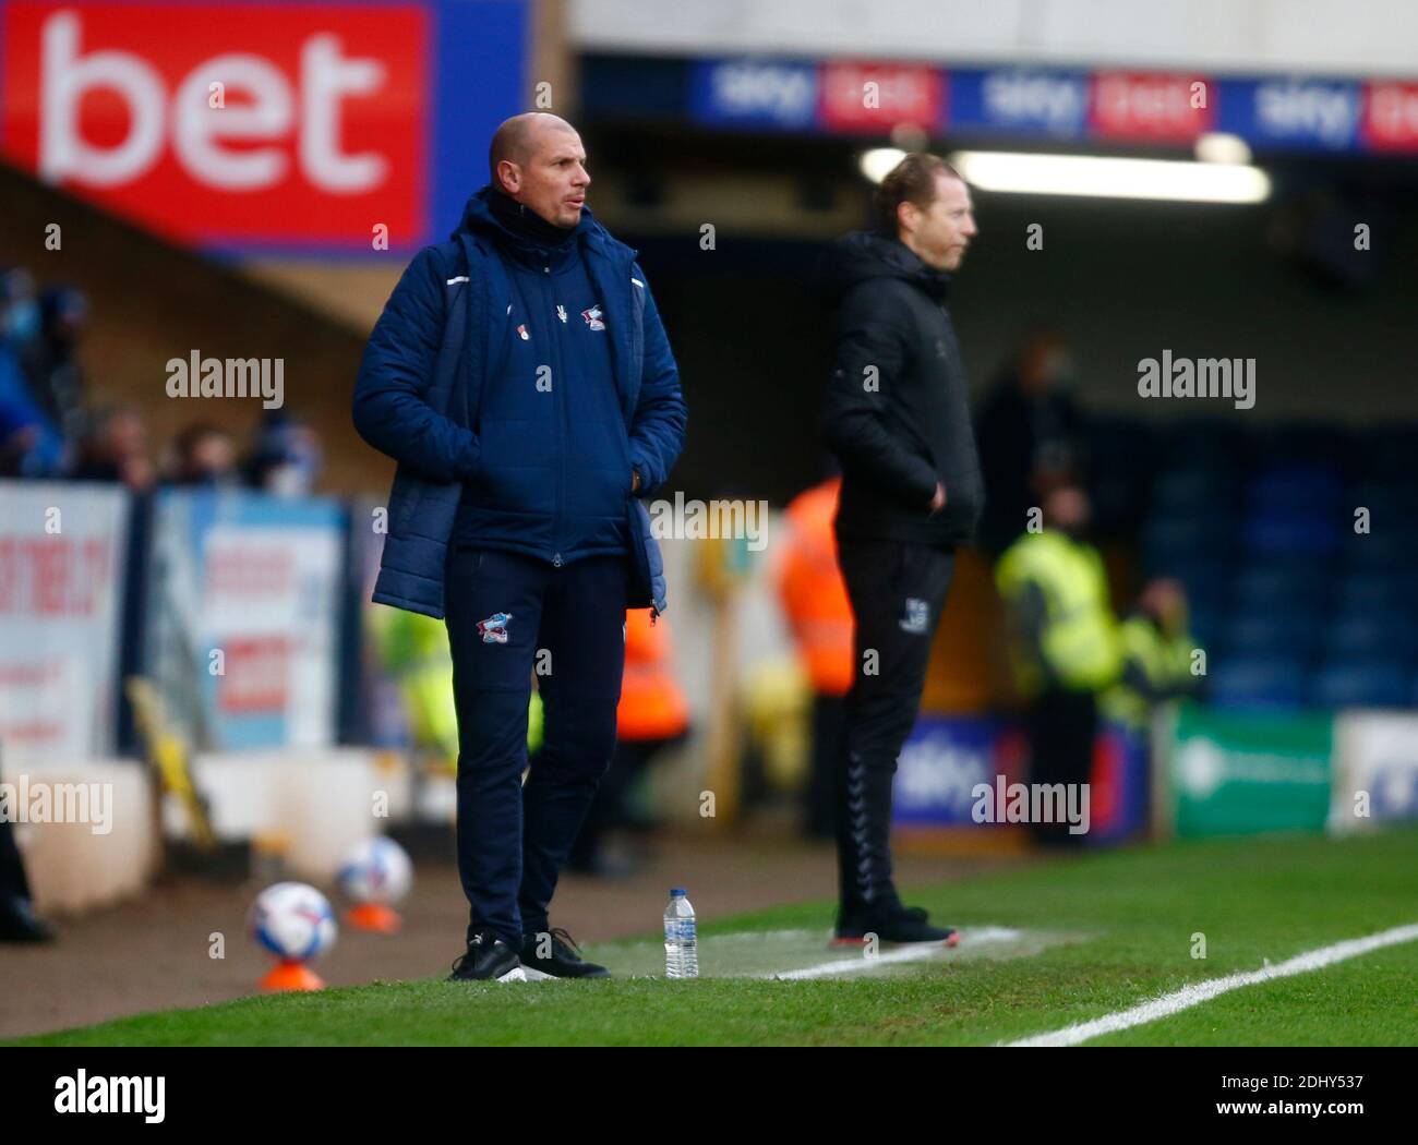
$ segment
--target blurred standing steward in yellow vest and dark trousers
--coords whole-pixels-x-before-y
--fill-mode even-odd
[[[1086,784],[1098,697],[1122,673],[1107,574],[1083,537],[1089,503],[1065,486],[1044,504],[1044,531],[1025,533],[995,565],[1005,604],[1015,684],[1028,703],[1031,782]],[[1066,822],[1032,823],[1044,843],[1081,845]]]

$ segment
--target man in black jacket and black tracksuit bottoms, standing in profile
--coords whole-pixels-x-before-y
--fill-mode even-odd
[[[832,248],[839,296],[828,448],[842,465],[838,560],[856,619],[856,673],[838,764],[837,942],[947,942],[905,907],[891,876],[896,757],[916,721],[930,645],[974,534],[983,480],[947,272],[976,234],[970,190],[932,154],[909,154],[876,193],[881,234]]]

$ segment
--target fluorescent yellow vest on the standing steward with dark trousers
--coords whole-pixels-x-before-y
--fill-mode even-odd
[[[1122,670],[1117,622],[1107,601],[1107,574],[1098,550],[1062,533],[1025,533],[1005,550],[994,571],[1000,595],[1017,608],[1027,585],[1044,594],[1045,622],[1041,649],[1012,642],[1020,692],[1035,696],[1044,687],[1044,667],[1075,692],[1099,692]]]

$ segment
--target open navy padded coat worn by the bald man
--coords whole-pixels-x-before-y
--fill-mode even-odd
[[[486,196],[484,188],[468,201],[462,224],[448,242],[425,247],[408,264],[374,325],[354,385],[356,431],[398,462],[373,599],[440,619],[458,503],[476,495],[484,462],[482,390],[495,377],[508,340],[518,337],[512,322],[515,298],[503,264],[508,255],[499,248],[499,224],[488,210]],[[583,211],[577,241],[605,312],[625,425],[624,441],[600,438],[601,449],[624,449],[625,456],[607,453],[600,461],[634,466],[641,476],[635,497],[648,497],[665,482],[683,445],[686,410],[679,371],[635,251],[611,238],[588,210]],[[570,434],[576,432],[577,427],[570,427]],[[563,452],[570,445],[560,442]],[[587,442],[576,445],[584,455]],[[550,487],[556,485],[552,470],[518,472],[529,482],[549,483],[546,489],[526,490],[527,506],[560,509],[560,490]],[[644,506],[631,499],[628,483],[627,473],[630,558],[634,582],[648,597],[631,604],[654,604],[662,611],[658,544],[648,536]],[[502,504],[506,492],[499,480]],[[505,531],[488,537],[488,543],[547,561],[569,563],[579,555],[574,546],[560,547],[554,531],[529,530],[526,520],[509,517]],[[649,584],[642,582],[647,577]]]

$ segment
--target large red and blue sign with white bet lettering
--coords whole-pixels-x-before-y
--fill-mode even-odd
[[[520,109],[523,9],[16,0],[0,150],[182,242],[420,245]]]

